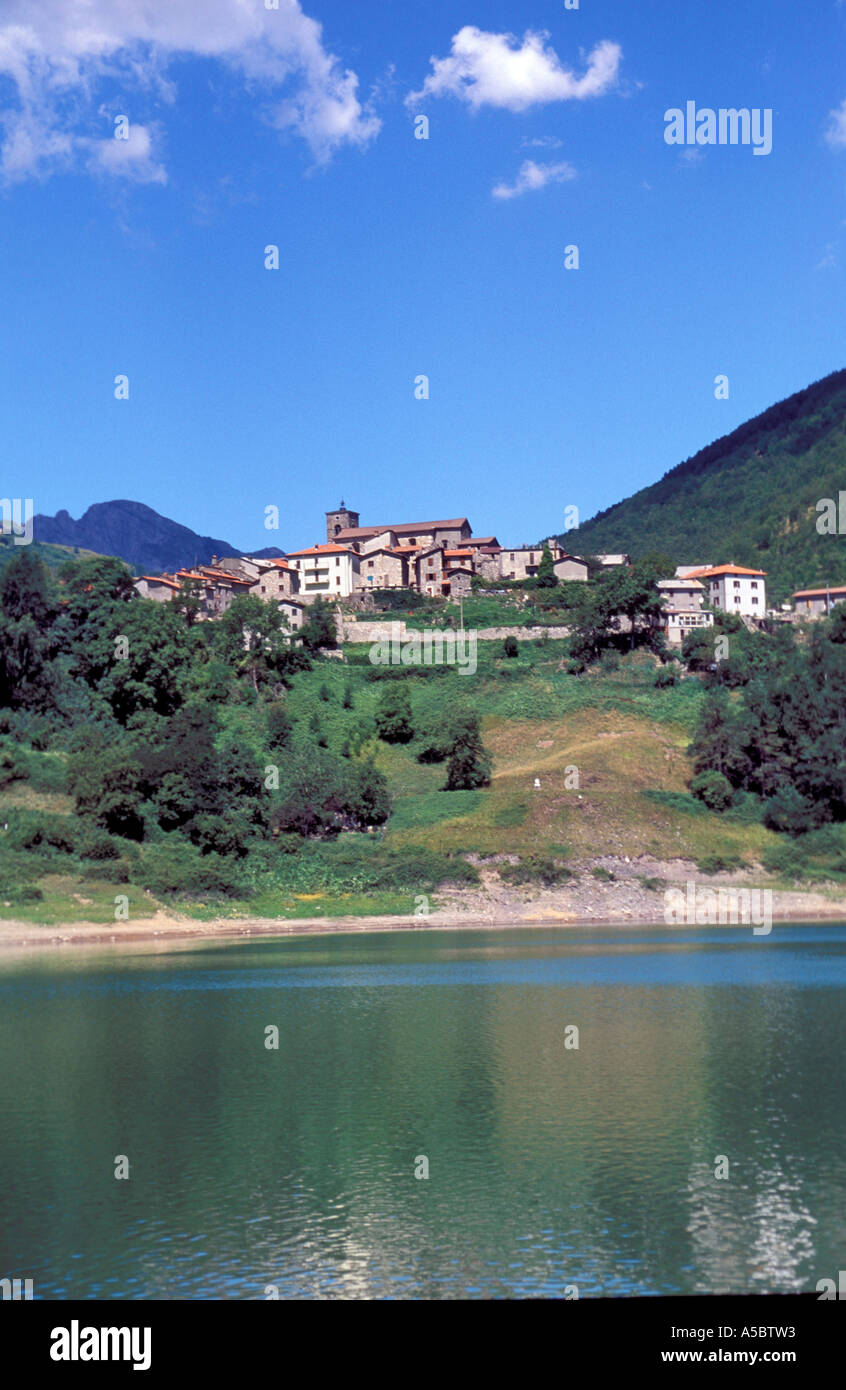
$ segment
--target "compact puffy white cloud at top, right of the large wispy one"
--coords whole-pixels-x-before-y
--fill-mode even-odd
[[[617,82],[622,49],[603,39],[588,54],[582,76],[561,64],[547,33],[528,31],[522,43],[513,33],[488,33],[465,25],[453,38],[447,58],[431,58],[432,72],[407,101],[457,96],[474,110],[482,106],[525,111],[546,101],[582,101],[602,96]]]

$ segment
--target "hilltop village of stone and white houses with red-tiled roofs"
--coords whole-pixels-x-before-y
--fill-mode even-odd
[[[239,594],[275,603],[288,627],[297,631],[315,598],[343,600],[345,607],[378,609],[385,591],[411,591],[429,598],[465,598],[474,580],[504,587],[536,578],[545,549],[558,582],[588,582],[590,564],[565,550],[556,538],[535,546],[503,546],[495,535],[474,537],[467,517],[361,525],[357,512],[342,505],[326,512],[325,541],[282,557],[213,557],[172,574],[144,574],[136,589],[168,602],[190,589],[203,619],[226,612]],[[628,555],[592,557],[600,567],[629,564]],[[846,588],[800,589],[793,609],[767,609],[765,571],[739,564],[679,566],[658,581],[668,642],[681,645],[686,632],[710,627],[714,610],[733,613],[749,626],[764,617],[821,617]]]

